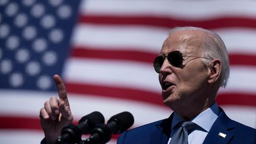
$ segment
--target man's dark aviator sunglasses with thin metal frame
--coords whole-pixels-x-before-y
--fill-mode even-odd
[[[153,62],[153,66],[157,73],[159,73],[159,71],[162,67],[162,64],[164,63],[165,57],[167,57],[169,64],[171,64],[172,66],[175,66],[177,68],[180,66],[183,66],[183,57],[184,56],[180,51],[175,50],[175,51],[169,52],[167,54],[167,56],[160,55],[155,58],[155,60]],[[201,57],[201,56],[188,56],[188,57],[198,57],[198,58],[208,59],[207,57]]]

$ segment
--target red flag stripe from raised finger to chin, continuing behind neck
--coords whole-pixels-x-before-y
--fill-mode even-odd
[[[90,85],[90,84],[73,84],[67,83],[66,88],[68,92],[78,93],[78,94],[89,94],[95,95],[95,97],[111,97],[111,98],[121,98],[127,100],[136,100],[146,103],[152,103],[164,106],[162,103],[161,92],[159,94],[130,89],[122,87],[110,87],[106,85]],[[99,96],[100,95],[100,96]],[[219,94],[217,96],[217,103],[219,105],[233,104],[233,105],[248,105],[256,107],[256,95],[250,95],[246,93],[228,93]]]

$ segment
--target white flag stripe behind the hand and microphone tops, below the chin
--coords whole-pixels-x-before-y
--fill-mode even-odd
[[[4,91],[1,90],[0,115],[15,117],[38,117],[44,101],[56,93],[43,93],[34,91]],[[143,96],[142,96],[143,97]],[[133,100],[100,97],[95,95],[83,95],[68,93],[74,119],[78,121],[92,111],[100,111],[105,121],[111,116],[122,111],[129,111],[135,117],[134,126],[150,123],[158,119],[165,119],[172,112],[164,104],[154,105]],[[17,103],[14,103],[17,101]]]

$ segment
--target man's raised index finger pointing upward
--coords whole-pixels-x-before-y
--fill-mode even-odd
[[[68,101],[68,97],[66,94],[66,87],[62,78],[59,75],[54,75],[53,78],[55,79],[55,83],[57,85],[57,92],[59,94],[59,98]]]

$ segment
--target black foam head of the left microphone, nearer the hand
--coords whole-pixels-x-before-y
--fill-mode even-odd
[[[87,122],[89,126],[95,126],[98,123],[104,123],[105,119],[103,114],[98,111],[94,111],[86,116],[82,117],[78,123]]]

